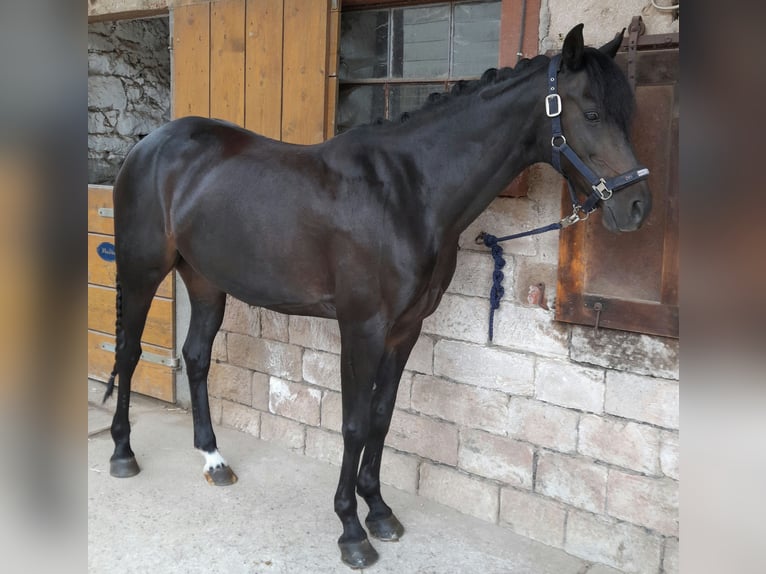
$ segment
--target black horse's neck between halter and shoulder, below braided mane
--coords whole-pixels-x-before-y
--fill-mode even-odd
[[[550,128],[543,113],[545,69],[494,98],[440,115],[414,136],[430,149],[424,189],[444,234],[458,235],[521,171],[547,161]]]

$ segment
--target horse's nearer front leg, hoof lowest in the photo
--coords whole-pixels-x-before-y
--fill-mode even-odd
[[[343,525],[343,534],[338,546],[344,563],[352,568],[365,568],[378,560],[378,553],[357,515],[357,472],[368,438],[372,386],[383,356],[385,333],[378,321],[341,322],[340,332],[343,462],[335,492],[335,513]]]

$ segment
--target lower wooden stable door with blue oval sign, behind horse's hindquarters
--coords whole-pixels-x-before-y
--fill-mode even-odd
[[[114,366],[115,346],[114,219],[112,188],[88,186],[88,377],[106,382]],[[143,355],[131,390],[175,401],[174,275],[162,282],[149,310]],[[119,384],[119,381],[118,381]]]

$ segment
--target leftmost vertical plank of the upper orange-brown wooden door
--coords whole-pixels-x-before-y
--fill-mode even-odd
[[[173,9],[174,118],[210,116],[210,4]]]

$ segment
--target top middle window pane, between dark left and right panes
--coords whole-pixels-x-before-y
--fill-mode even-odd
[[[449,74],[449,6],[393,11],[392,76],[446,78]]]

